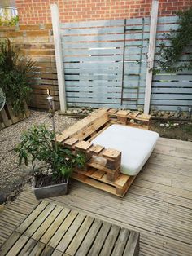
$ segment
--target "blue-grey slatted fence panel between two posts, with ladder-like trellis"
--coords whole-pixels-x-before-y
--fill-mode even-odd
[[[149,19],[61,24],[68,105],[143,104]]]

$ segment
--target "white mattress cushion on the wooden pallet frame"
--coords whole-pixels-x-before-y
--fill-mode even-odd
[[[158,139],[159,134],[151,130],[111,125],[92,142],[94,145],[120,150],[121,173],[137,175],[151,156]]]

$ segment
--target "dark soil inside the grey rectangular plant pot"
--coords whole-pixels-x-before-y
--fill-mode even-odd
[[[35,176],[35,188],[42,188],[46,186],[56,185],[60,183],[66,183],[66,179],[63,177],[54,177],[52,175],[41,174]]]

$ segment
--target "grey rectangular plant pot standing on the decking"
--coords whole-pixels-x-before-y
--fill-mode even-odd
[[[32,188],[37,199],[53,197],[53,196],[63,196],[68,194],[68,179],[66,183],[59,183],[55,185],[50,185],[41,188],[35,188],[36,179],[33,178]]]

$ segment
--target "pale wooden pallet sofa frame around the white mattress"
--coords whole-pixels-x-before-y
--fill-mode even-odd
[[[84,170],[75,170],[72,178],[95,188],[123,197],[136,176],[120,173],[121,152],[115,148],[104,148],[91,141],[103,130],[118,123],[148,130],[150,115],[129,110],[99,108],[57,136],[57,142],[73,152],[84,152]]]

